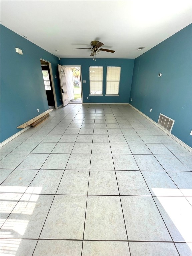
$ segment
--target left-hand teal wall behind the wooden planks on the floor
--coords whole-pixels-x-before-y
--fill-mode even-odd
[[[21,130],[17,126],[48,109],[40,58],[51,62],[53,77],[59,77],[59,59],[2,25],[0,32],[2,142]],[[16,53],[15,47],[21,49],[23,55]],[[58,78],[54,78],[54,84],[59,106],[61,94]]]

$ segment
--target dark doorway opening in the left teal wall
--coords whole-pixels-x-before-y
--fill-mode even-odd
[[[49,107],[56,107],[55,97],[54,97],[54,87],[53,87],[52,76],[50,72],[51,63],[44,60],[40,60],[40,61],[41,61],[41,69],[42,69],[42,75],[43,75],[43,81],[45,85],[48,105]]]

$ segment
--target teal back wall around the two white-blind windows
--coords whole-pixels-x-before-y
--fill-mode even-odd
[[[61,65],[81,65],[82,80],[86,80],[82,83],[83,103],[129,103],[134,59],[61,59]],[[103,67],[103,96],[89,96],[90,66]],[[107,66],[121,67],[119,96],[105,96]]]

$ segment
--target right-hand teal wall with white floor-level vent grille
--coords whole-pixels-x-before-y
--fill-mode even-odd
[[[130,94],[133,99],[130,104],[155,122],[160,113],[175,120],[171,133],[189,146],[192,146],[191,32],[190,24],[135,59]]]

